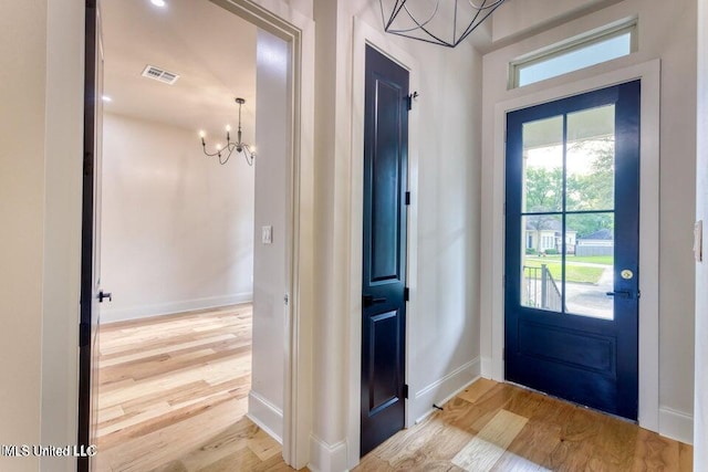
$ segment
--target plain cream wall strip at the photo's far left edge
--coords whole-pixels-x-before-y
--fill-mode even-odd
[[[46,1],[3,6],[0,18],[0,443],[40,439]],[[0,458],[0,469],[37,470]]]

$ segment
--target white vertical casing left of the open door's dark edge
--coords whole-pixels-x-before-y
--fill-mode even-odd
[[[63,444],[77,424],[85,2],[48,7],[41,443]],[[40,470],[75,470],[75,460],[42,458]]]

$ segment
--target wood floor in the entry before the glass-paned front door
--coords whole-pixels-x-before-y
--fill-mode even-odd
[[[690,471],[693,448],[519,387],[480,379],[354,471]]]

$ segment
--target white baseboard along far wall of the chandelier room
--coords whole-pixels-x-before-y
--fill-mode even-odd
[[[236,305],[253,301],[252,293],[237,293],[206,298],[183,300],[178,302],[157,303],[153,305],[128,306],[111,310],[110,306],[101,308],[101,323],[125,322],[152,316],[174,315],[175,313],[191,312],[194,310],[214,308],[217,306]],[[110,304],[108,304],[110,305]]]

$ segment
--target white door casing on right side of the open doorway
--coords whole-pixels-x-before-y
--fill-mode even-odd
[[[312,315],[314,213],[314,21],[282,0],[211,0],[290,46],[291,159],[288,179],[285,378],[283,459],[302,469],[310,462],[312,431]]]

